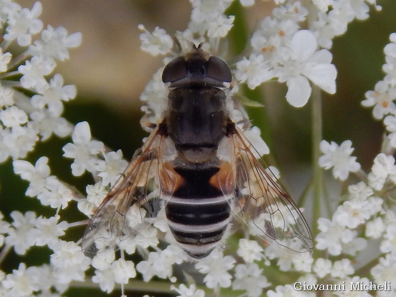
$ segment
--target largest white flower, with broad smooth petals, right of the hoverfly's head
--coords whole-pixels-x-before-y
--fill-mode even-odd
[[[308,80],[329,94],[336,93],[336,67],[331,64],[332,54],[327,49],[317,50],[317,41],[308,30],[298,31],[290,43],[288,57],[277,71],[278,80],[286,82],[287,101],[301,107],[311,95]]]

